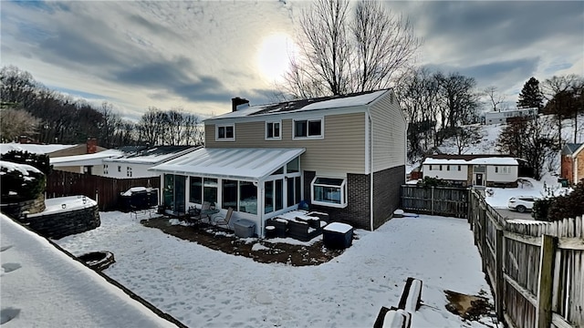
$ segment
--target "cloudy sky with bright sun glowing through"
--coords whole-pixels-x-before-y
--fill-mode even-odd
[[[203,118],[273,100],[308,1],[6,2],[1,63],[124,118],[149,107]],[[419,65],[474,77],[512,103],[529,77],[584,75],[582,1],[388,2],[424,40]]]

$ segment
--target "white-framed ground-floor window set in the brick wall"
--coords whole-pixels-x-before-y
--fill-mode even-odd
[[[347,180],[316,177],[310,183],[312,203],[344,208],[347,206]]]

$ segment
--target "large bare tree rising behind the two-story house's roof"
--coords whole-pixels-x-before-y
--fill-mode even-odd
[[[291,58],[283,86],[292,97],[389,87],[421,46],[410,22],[380,1],[360,1],[349,18],[347,0],[316,0],[302,12],[299,56]]]

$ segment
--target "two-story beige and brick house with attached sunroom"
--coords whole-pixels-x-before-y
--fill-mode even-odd
[[[236,97],[204,130],[203,149],[151,169],[171,210],[211,201],[261,236],[266,219],[303,200],[369,230],[400,204],[406,123],[391,89],[261,106]]]

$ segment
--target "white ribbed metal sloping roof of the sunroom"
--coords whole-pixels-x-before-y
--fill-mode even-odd
[[[261,180],[306,149],[197,149],[150,170],[205,177]]]

